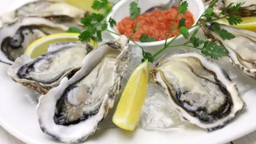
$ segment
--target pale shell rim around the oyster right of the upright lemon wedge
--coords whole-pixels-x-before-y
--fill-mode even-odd
[[[224,81],[226,81],[225,83],[223,83],[224,85],[226,85],[226,88],[228,90],[228,92],[230,93],[230,97],[232,98],[232,100],[234,101],[234,98],[236,98],[235,100],[237,101],[238,99],[240,99],[237,102],[241,102],[238,103],[239,106],[237,108],[235,108],[235,113],[234,113],[234,105],[230,111],[230,114],[224,118],[218,119],[217,122],[214,122],[212,124],[204,124],[201,123],[197,118],[194,118],[193,116],[190,116],[189,114],[187,114],[186,110],[184,110],[182,107],[178,106],[172,99],[170,96],[169,91],[167,90],[167,85],[162,85],[162,83],[159,83],[157,78],[156,78],[156,74],[158,73],[158,71],[155,69],[158,66],[161,66],[161,63],[166,62],[171,60],[172,58],[181,58],[181,57],[196,57],[197,59],[199,59],[202,63],[202,65],[206,68],[206,69],[210,69],[211,71],[217,71],[218,73],[216,74],[217,79],[223,83],[223,79],[225,79]],[[211,69],[210,65],[214,66],[213,69]],[[207,59],[206,57],[203,57],[203,55],[198,54],[198,53],[183,53],[183,54],[173,54],[170,57],[165,58],[164,60],[162,60],[161,62],[157,63],[155,67],[153,67],[150,70],[150,73],[152,75],[152,82],[156,83],[160,86],[162,86],[164,88],[165,94],[171,99],[170,102],[172,103],[172,107],[173,109],[179,114],[180,119],[182,121],[185,122],[189,122],[192,124],[195,124],[203,129],[205,129],[208,132],[214,131],[214,130],[218,130],[221,129],[222,127],[226,126],[228,123],[230,123],[241,111],[243,111],[246,107],[246,103],[244,102],[243,98],[241,97],[240,93],[238,92],[237,89],[237,85],[235,82],[231,81],[231,79],[229,78],[228,74],[226,73],[225,70],[223,70],[221,67],[219,67],[217,65],[217,63],[213,62],[210,59]],[[228,85],[227,85],[228,84]],[[231,93],[232,92],[232,93]],[[234,102],[233,102],[234,103]],[[186,114],[186,116],[184,115]],[[230,116],[231,115],[231,116]],[[194,120],[193,120],[194,119]],[[224,119],[224,121],[222,121]],[[226,119],[226,120],[225,120]],[[222,122],[220,122],[220,120]],[[220,125],[215,125],[215,124],[220,123]]]

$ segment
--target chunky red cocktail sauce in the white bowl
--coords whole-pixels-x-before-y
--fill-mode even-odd
[[[122,21],[118,22],[117,28],[119,33],[130,37],[133,34],[133,29],[139,23],[142,23],[136,33],[132,36],[135,41],[139,41],[141,34],[148,34],[149,37],[154,37],[157,41],[164,40],[174,22],[177,15],[178,7],[173,6],[166,11],[155,10],[150,13],[140,14],[137,19],[132,20],[131,17],[126,17]],[[189,28],[194,24],[193,14],[187,11],[186,14],[179,14],[177,20],[174,22],[173,28],[176,28],[181,18],[186,18],[186,27]],[[170,37],[177,36],[179,32],[173,31]]]

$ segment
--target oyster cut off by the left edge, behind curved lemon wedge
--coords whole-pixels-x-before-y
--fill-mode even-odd
[[[39,17],[26,17],[0,28],[0,60],[13,63],[36,39],[64,33],[68,27]]]

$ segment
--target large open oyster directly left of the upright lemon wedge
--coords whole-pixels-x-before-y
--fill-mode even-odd
[[[62,142],[81,142],[92,135],[113,107],[129,64],[128,39],[120,36],[92,50],[69,80],[39,98],[42,131]]]

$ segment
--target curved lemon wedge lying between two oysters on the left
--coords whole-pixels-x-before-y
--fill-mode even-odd
[[[79,41],[79,35],[78,33],[59,33],[41,37],[27,47],[25,54],[29,55],[32,59],[37,58],[39,55],[47,52],[50,44]],[[98,47],[97,43],[92,39],[90,43],[94,44],[93,47]]]

